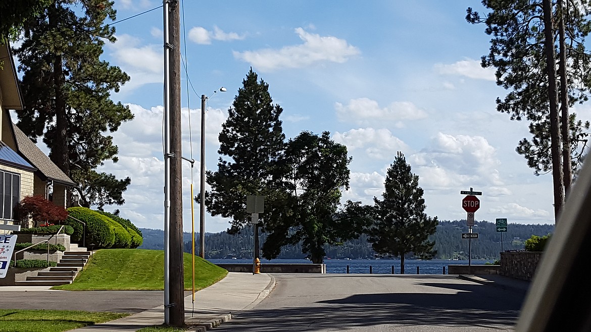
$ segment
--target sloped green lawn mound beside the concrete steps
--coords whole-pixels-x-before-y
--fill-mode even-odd
[[[195,290],[223,279],[228,271],[195,257]],[[184,253],[184,284],[191,290],[191,254]],[[51,289],[67,291],[138,291],[164,289],[164,251],[103,249],[90,257],[74,282]]]

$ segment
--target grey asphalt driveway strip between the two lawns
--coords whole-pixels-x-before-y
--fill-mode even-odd
[[[164,304],[163,291],[9,291],[0,296],[0,309],[139,313]]]

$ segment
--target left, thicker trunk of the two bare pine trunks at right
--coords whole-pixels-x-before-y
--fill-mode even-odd
[[[560,131],[558,119],[558,96],[556,91],[556,56],[554,55],[554,35],[552,25],[551,0],[543,0],[544,4],[544,37],[546,67],[548,71],[548,99],[550,102],[550,151],[552,156],[552,180],[554,185],[554,223],[558,221],[558,213],[564,204],[563,169],[560,158]]]

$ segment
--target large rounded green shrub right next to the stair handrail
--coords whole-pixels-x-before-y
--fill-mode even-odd
[[[109,222],[102,214],[90,210],[87,207],[70,207],[68,209],[70,216],[79,219],[86,223],[86,238],[85,245],[94,245],[93,249],[111,248],[115,243],[115,231]],[[82,239],[82,224],[69,221],[68,224],[74,227],[74,224],[80,225],[79,228],[74,227],[74,234],[72,241],[80,243]],[[77,233],[79,231],[79,233]]]

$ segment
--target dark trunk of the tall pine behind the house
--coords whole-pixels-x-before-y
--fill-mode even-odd
[[[49,8],[49,23],[57,29],[59,19],[57,18],[57,2]],[[53,84],[54,84],[54,108],[56,111],[56,137],[53,140],[51,148],[51,161],[60,168],[66,175],[70,175],[70,158],[67,139],[67,114],[66,114],[66,96],[64,96],[64,71],[62,67],[61,50],[56,47],[56,56],[53,58]]]

